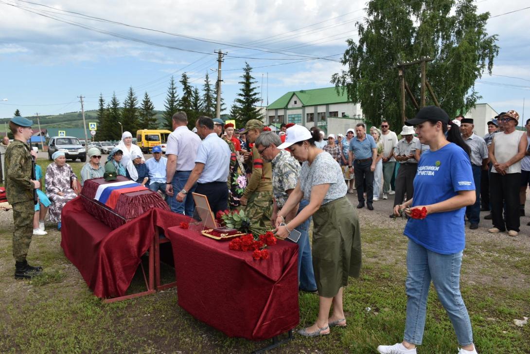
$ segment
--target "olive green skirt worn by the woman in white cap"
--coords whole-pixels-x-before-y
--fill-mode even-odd
[[[313,215],[313,269],[319,295],[334,297],[361,269],[357,212],[346,197],[324,204]]]

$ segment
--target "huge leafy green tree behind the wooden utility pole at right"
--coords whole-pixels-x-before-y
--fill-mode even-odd
[[[480,99],[475,80],[491,74],[498,55],[497,35],[487,32],[489,13],[478,13],[473,0],[370,0],[366,21],[357,23],[358,41],[348,39],[342,57],[346,68],[332,76],[337,90],[361,104],[365,117],[375,126],[381,117],[400,127],[401,93],[399,63],[421,57],[427,64],[427,79],[441,108],[450,117],[465,112]],[[420,66],[405,68],[412,94],[420,98]],[[434,104],[426,94],[427,105]],[[405,116],[416,108],[407,98]]]

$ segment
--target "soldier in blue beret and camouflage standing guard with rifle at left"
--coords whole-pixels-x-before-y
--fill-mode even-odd
[[[6,194],[13,206],[13,256],[15,258],[15,279],[32,278],[42,272],[42,267],[31,267],[26,260],[33,235],[33,189],[40,187],[39,181],[31,180],[31,151],[26,141],[31,138],[32,121],[14,117],[9,127],[14,135],[5,154]]]

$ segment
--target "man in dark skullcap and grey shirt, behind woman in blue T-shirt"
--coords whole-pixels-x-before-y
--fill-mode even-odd
[[[471,149],[471,170],[473,171],[473,181],[475,182],[475,203],[466,207],[465,215],[471,225],[469,228],[479,228],[480,221],[480,180],[481,171],[488,171],[488,146],[484,139],[473,132],[475,125],[473,119],[464,118],[461,121],[460,131],[462,139]]]

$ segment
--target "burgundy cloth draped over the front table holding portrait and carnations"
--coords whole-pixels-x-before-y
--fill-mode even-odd
[[[269,258],[228,250],[199,232],[170,227],[179,306],[228,337],[264,340],[299,322],[298,245],[278,240]]]

